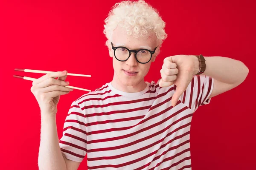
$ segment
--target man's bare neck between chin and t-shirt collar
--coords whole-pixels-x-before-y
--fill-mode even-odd
[[[124,85],[120,79],[116,76],[114,73],[113,80],[111,82],[111,85],[113,88],[116,88],[119,91],[127,92],[127,93],[136,93],[143,91],[146,87],[147,84],[144,81],[144,78],[136,85]]]

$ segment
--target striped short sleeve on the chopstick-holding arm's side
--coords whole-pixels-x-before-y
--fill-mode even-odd
[[[87,153],[85,117],[76,102],[68,111],[59,146],[62,155],[72,161],[81,162]]]

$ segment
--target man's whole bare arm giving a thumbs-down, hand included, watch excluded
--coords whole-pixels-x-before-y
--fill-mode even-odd
[[[227,57],[205,57],[206,70],[204,75],[214,79],[211,98],[229,91],[241,84],[249,73],[249,69],[241,61]],[[186,91],[189,83],[199,70],[199,61],[195,55],[175,55],[166,57],[160,70],[160,87],[177,86],[172,96],[175,106],[180,96]]]

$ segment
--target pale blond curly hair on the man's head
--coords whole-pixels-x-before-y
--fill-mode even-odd
[[[116,3],[105,19],[103,33],[107,37],[105,43],[110,47],[112,32],[117,26],[124,27],[128,35],[136,38],[140,36],[149,36],[155,33],[157,36],[158,54],[163,40],[167,38],[164,30],[166,23],[160,17],[158,11],[145,3],[144,0],[139,1],[122,1]]]

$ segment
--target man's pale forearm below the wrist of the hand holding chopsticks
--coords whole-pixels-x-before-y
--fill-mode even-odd
[[[55,116],[41,116],[41,141],[38,166],[39,170],[67,170],[58,143]]]

